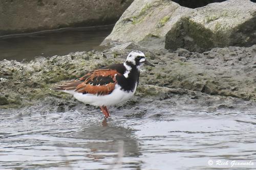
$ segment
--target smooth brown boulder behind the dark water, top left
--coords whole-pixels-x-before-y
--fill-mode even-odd
[[[0,1],[0,35],[115,23],[133,0]]]

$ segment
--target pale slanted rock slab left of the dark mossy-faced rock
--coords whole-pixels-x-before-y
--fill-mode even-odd
[[[163,48],[166,33],[187,11],[190,9],[172,1],[135,0],[104,41],[134,41]]]

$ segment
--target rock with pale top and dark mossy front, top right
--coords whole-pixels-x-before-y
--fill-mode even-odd
[[[256,4],[228,0],[197,8],[169,27],[165,48],[204,52],[212,47],[256,43]]]

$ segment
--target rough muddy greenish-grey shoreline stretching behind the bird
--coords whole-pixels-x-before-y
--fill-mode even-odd
[[[30,62],[0,61],[1,112],[17,108],[21,112],[37,108],[45,113],[90,109],[91,106],[75,101],[71,95],[51,88],[90,70],[123,62],[131,50],[143,51],[156,67],[143,68],[135,97],[117,108],[136,108],[156,101],[201,111],[255,108],[256,45],[213,48],[204,53],[180,48],[170,53],[129,42],[102,52],[38,57]],[[139,113],[135,110],[134,114],[131,116]]]

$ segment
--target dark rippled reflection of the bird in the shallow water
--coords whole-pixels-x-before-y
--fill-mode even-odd
[[[111,169],[120,167],[126,157],[136,158],[141,155],[134,130],[124,128],[120,123],[116,126],[116,122],[112,123],[112,119],[104,118],[100,124],[86,126],[82,131],[77,132],[76,137],[89,140],[83,148],[89,149],[86,157],[93,159],[94,162],[106,163],[105,161],[109,159],[105,158],[115,158],[111,163]],[[140,168],[141,163],[134,161],[129,166]]]

